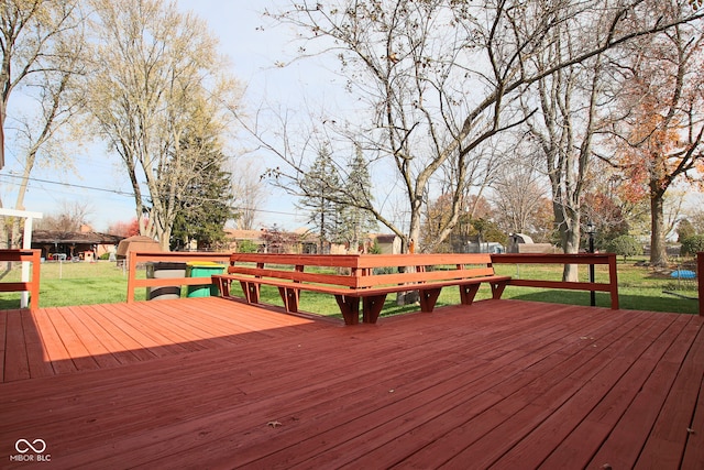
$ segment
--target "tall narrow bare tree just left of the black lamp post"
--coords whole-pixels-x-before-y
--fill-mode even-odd
[[[549,45],[537,52],[530,62],[536,70],[548,70],[554,66],[556,57],[573,57],[580,43],[588,42],[584,29],[573,18],[551,29]],[[608,36],[614,23],[591,23],[592,36]],[[580,28],[582,26],[582,28]],[[582,196],[585,192],[594,139],[604,125],[598,111],[603,109],[602,89],[607,74],[602,54],[580,63],[561,67],[539,79],[538,112],[527,120],[530,138],[543,157],[550,182],[552,206],[562,250],[576,253],[580,249]],[[535,112],[534,98],[522,98],[524,112]],[[576,281],[576,265],[565,265],[563,280]]]

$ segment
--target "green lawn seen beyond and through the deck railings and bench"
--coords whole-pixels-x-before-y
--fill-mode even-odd
[[[56,263],[47,262],[41,265],[42,281],[40,285],[40,306],[57,307],[68,305],[111,304],[127,300],[127,272],[114,263],[100,261],[97,263]],[[524,278],[560,280],[561,266],[543,265],[496,265],[498,274]],[[608,273],[605,266],[595,266],[595,281],[607,282]],[[145,271],[139,276],[144,277]],[[18,281],[20,270],[0,272],[0,282]],[[587,269],[581,266],[580,278],[586,281]],[[618,284],[620,307],[624,309],[672,311],[681,314],[696,314],[697,302],[684,298],[696,297],[695,281],[676,281],[657,271],[635,265],[634,261],[619,262]],[[235,287],[237,288],[237,287]],[[145,298],[143,289],[138,291],[138,300]],[[666,294],[663,291],[674,293]],[[185,295],[185,294],[184,294]],[[490,298],[491,289],[482,285],[477,299]],[[588,305],[590,293],[580,291],[537,289],[529,287],[508,286],[503,298],[525,300],[541,300],[556,304]],[[262,287],[262,300],[273,305],[282,305],[278,292],[273,287]],[[438,306],[455,305],[460,303],[459,289],[444,288]],[[300,307],[302,310],[321,315],[339,316],[334,298],[330,295],[310,292],[301,293]],[[0,294],[0,309],[18,308],[19,293]],[[610,302],[605,293],[596,293],[596,305],[608,307]],[[397,306],[395,296],[389,295],[382,316],[396,315],[404,311],[417,310],[414,305]]]

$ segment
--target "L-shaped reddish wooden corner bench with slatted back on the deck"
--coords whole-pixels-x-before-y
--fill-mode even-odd
[[[239,282],[251,304],[260,303],[262,285],[275,286],[289,313],[298,311],[300,291],[331,294],[346,325],[359,323],[360,303],[363,321],[376,323],[387,294],[418,291],[421,311],[432,311],[442,287],[459,286],[462,304],[471,305],[481,283],[501,298],[509,281],[494,273],[490,254],[234,253],[228,273],[212,276],[228,298],[233,297],[231,284]]]

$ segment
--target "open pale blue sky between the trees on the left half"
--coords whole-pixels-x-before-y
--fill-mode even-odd
[[[242,84],[246,85],[245,100],[258,102],[265,96],[271,102],[295,106],[297,99],[316,90],[320,69],[311,73],[311,63],[296,63],[289,67],[276,67],[277,61],[287,61],[293,55],[293,37],[282,29],[257,28],[266,24],[261,12],[275,8],[277,0],[178,0],[182,11],[193,11],[206,20],[210,33],[220,42],[220,53],[229,58],[229,68]],[[278,0],[278,3],[282,3]],[[16,101],[19,102],[19,101]],[[11,102],[12,105],[12,102]],[[231,142],[229,153],[240,152],[241,145]],[[14,207],[15,188],[20,167],[11,149],[6,151],[6,167],[0,172],[0,187],[4,207]],[[37,167],[25,197],[25,209],[58,215],[74,204],[88,207],[87,220],[96,231],[106,231],[114,222],[134,219],[134,201],[129,179],[120,166],[119,157],[108,152],[105,143],[87,143],[82,149],[70,149],[73,170],[66,167]],[[276,165],[273,160],[262,161],[263,166]],[[258,214],[260,226],[276,223],[287,229],[305,225],[293,200],[280,190],[271,189],[266,204]]]

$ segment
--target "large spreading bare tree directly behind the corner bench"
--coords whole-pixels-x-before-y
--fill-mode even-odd
[[[483,170],[479,181],[484,182],[494,154],[483,152],[484,145],[527,119],[513,105],[530,85],[701,14],[667,21],[648,17],[640,29],[622,30],[628,14],[639,15],[650,7],[644,0],[615,6],[597,0],[578,4],[566,0],[549,4],[348,0],[297,1],[288,11],[270,14],[297,28],[304,55],[321,52],[340,59],[346,89],[355,102],[364,105],[364,112],[356,120],[334,117],[326,122],[372,155],[371,166],[375,160],[391,162],[387,166],[395,168],[408,206],[408,228],[394,225],[380,206],[365,208],[408,244],[418,239],[425,195],[439,172],[452,175],[450,217],[440,239],[457,225],[463,196],[477,182],[472,164],[490,159],[479,166]],[[610,28],[569,50],[553,48],[556,54],[544,67],[536,67],[534,57],[549,48],[566,24],[587,32],[596,20]],[[280,174],[300,177],[302,160],[310,157],[305,145],[294,152],[290,140],[284,145],[266,142],[256,122],[250,130],[286,162]],[[283,138],[292,135],[284,132]],[[588,154],[588,145],[582,151]],[[570,244],[574,241],[570,239]]]

